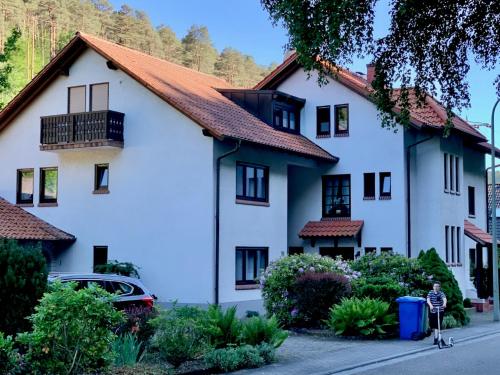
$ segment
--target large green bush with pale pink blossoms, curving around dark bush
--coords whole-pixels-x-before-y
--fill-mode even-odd
[[[260,279],[262,297],[267,313],[276,316],[283,326],[294,324],[295,301],[290,293],[297,277],[305,272],[334,272],[349,280],[358,276],[347,262],[313,254],[286,256],[271,262]]]

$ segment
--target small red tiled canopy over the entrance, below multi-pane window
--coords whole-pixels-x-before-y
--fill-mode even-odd
[[[299,237],[352,237],[363,228],[363,223],[363,220],[310,221],[299,232]]]

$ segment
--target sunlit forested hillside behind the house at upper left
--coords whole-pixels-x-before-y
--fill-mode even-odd
[[[13,30],[20,31],[17,38],[12,38]],[[238,87],[251,87],[274,67],[258,65],[231,47],[217,51],[205,26],[193,25],[179,38],[167,25],[152,25],[145,12],[127,5],[114,9],[108,0],[0,0],[0,102],[7,103],[76,31],[214,74]],[[5,51],[6,46],[12,51]]]

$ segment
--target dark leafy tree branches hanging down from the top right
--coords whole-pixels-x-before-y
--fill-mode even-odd
[[[470,63],[494,70],[499,62],[498,1],[391,1],[385,14],[390,29],[383,38],[373,34],[376,0],[261,3],[272,21],[287,29],[288,47],[297,51],[305,70],[319,72],[320,84],[337,73],[332,66],[373,55],[373,99],[384,126],[408,126],[412,96],[421,104],[426,93],[439,93],[451,127],[451,110],[470,104]],[[498,73],[495,84],[500,96]]]

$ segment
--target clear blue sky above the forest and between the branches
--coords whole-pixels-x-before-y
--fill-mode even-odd
[[[179,38],[191,25],[205,25],[219,51],[224,47],[234,47],[252,55],[259,64],[279,63],[283,58],[286,30],[272,26],[259,0],[111,0],[111,3],[115,8],[126,3],[146,11],[155,26],[168,25]],[[387,0],[383,0],[377,7],[376,36],[384,35],[389,26],[386,3]],[[355,61],[349,68],[364,71],[368,60]],[[490,122],[496,74],[498,69],[487,72],[472,66],[468,79],[471,108],[462,111],[463,117],[470,121]],[[497,113],[497,124],[500,124],[500,109]],[[486,129],[481,130],[485,133]]]

